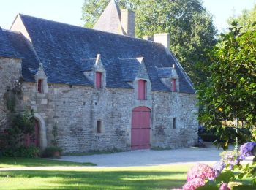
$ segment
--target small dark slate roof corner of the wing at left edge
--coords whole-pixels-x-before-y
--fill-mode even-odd
[[[12,47],[10,40],[0,28],[0,56],[6,58],[22,58],[20,54]]]

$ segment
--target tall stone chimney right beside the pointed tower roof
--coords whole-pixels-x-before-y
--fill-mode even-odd
[[[135,12],[128,9],[121,10],[121,26],[127,36],[135,37]]]

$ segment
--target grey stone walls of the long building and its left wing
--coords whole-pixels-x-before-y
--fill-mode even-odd
[[[0,58],[0,123],[7,125],[4,94],[20,77],[20,61]],[[135,84],[133,84],[135,86]],[[148,92],[137,100],[136,89],[48,84],[47,93],[37,92],[37,83],[23,83],[23,96],[16,109],[33,109],[40,123],[42,148],[51,144],[57,124],[58,143],[65,152],[86,152],[118,148],[130,150],[132,109],[151,109],[151,147],[181,148],[197,142],[197,99],[195,94]],[[148,88],[149,90],[151,88]],[[173,129],[176,118],[176,129]],[[102,133],[97,133],[97,120]]]

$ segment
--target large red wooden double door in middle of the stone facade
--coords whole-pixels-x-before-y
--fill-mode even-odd
[[[132,150],[150,148],[150,115],[148,107],[136,107],[132,110]]]

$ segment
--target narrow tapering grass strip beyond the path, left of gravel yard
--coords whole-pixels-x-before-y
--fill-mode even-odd
[[[0,158],[1,167],[53,167],[53,166],[95,166],[92,163],[77,163],[71,161],[57,161],[49,159],[30,159],[30,158]]]

